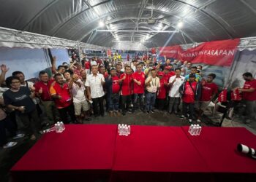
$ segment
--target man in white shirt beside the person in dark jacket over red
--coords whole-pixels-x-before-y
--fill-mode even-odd
[[[174,110],[174,114],[178,113],[178,105],[181,102],[181,94],[179,93],[179,87],[184,83],[184,76],[181,76],[181,68],[175,69],[175,76],[171,76],[169,79],[170,91],[169,91],[169,114]]]

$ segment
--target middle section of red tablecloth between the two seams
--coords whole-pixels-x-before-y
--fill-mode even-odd
[[[117,135],[113,181],[189,180],[184,173],[207,172],[181,127],[132,126],[128,137]]]

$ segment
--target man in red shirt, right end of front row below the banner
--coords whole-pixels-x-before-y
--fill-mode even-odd
[[[215,96],[218,93],[218,86],[213,81],[216,78],[216,74],[208,74],[207,80],[202,81],[202,93],[199,106],[196,106],[198,109],[197,122],[201,122],[201,116],[203,111],[206,111],[207,106],[211,103],[211,100],[214,100]]]

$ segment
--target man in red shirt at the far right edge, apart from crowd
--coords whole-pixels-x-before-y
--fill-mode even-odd
[[[246,104],[246,123],[256,122],[256,79],[252,74],[246,72],[243,74],[244,87],[239,91],[243,93],[243,100]]]

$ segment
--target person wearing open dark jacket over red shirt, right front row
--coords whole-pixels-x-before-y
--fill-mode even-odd
[[[189,108],[189,123],[195,118],[195,101],[200,98],[200,84],[195,82],[195,74],[189,75],[189,81],[184,82],[180,87],[180,92],[182,95],[182,108],[183,115],[181,118],[187,118]]]

